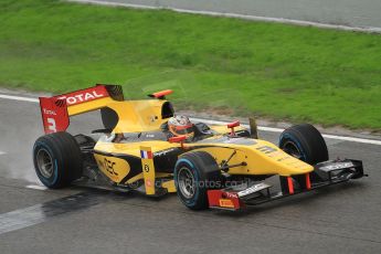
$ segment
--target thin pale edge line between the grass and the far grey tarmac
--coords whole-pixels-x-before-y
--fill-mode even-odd
[[[66,0],[66,1],[91,3],[91,4],[100,4],[100,6],[110,6],[110,7],[127,7],[127,8],[136,8],[136,9],[158,9],[158,10],[169,9],[169,10],[172,10],[176,12],[181,12],[181,13],[227,17],[227,18],[236,18],[236,19],[244,19],[244,20],[255,20],[255,21],[266,21],[266,22],[275,22],[275,23],[296,24],[296,25],[304,25],[304,27],[311,25],[311,27],[321,28],[321,29],[338,29],[338,30],[346,30],[346,31],[381,33],[381,28],[374,28],[374,27],[356,28],[356,27],[341,25],[341,24],[325,24],[325,23],[318,23],[318,22],[313,22],[313,21],[301,21],[301,20],[292,20],[292,19],[283,19],[283,18],[245,15],[245,14],[229,13],[229,12],[226,12],[226,13],[225,12],[215,12],[215,11],[195,11],[195,10],[170,8],[170,7],[163,8],[163,7],[156,7],[156,6],[121,3],[121,2],[112,2],[112,1],[97,1],[97,0]]]

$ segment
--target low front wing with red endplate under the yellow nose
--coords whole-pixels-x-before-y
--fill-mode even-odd
[[[362,161],[360,160],[338,159],[326,161],[316,165],[311,173],[279,177],[282,191],[277,192],[273,192],[272,186],[265,182],[209,190],[209,207],[212,209],[237,211],[250,205],[266,203],[364,176],[367,174],[363,173]]]

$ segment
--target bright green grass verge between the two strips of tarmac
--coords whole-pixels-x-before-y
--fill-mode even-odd
[[[0,12],[1,86],[173,88],[179,107],[381,129],[378,34],[54,0]]]

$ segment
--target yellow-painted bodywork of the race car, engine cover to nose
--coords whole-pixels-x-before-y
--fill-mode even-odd
[[[118,115],[118,123],[112,135],[126,133],[142,133],[159,130],[160,126],[167,121],[161,118],[162,105],[165,99],[144,99],[144,100],[124,100],[117,102],[110,97],[92,100],[68,107],[68,115],[77,115],[85,112],[108,107]],[[304,174],[314,170],[307,165],[281,150],[275,145],[260,139],[250,139],[252,144],[242,145],[235,142],[240,138],[227,138],[230,133],[226,126],[211,126],[211,129],[218,134],[213,137],[202,140],[202,142],[171,144],[169,141],[148,140],[139,142],[113,142],[99,140],[94,150],[95,160],[102,172],[112,181],[118,184],[133,183],[138,180],[145,181],[146,193],[155,194],[156,179],[171,177],[171,173],[156,172],[152,159],[141,159],[142,172],[131,178],[126,178],[131,170],[131,166],[124,159],[114,155],[126,155],[140,158],[140,150],[149,150],[154,155],[167,149],[181,149],[181,154],[195,150],[207,151],[214,157],[218,165],[223,165],[227,158],[229,165],[237,165],[229,169],[230,174],[258,176],[258,174],[279,174],[288,177],[292,174]],[[235,130],[243,129],[236,127]],[[226,141],[218,141],[221,138],[227,138]],[[243,138],[241,138],[243,139]],[[248,139],[248,138],[246,138]],[[169,166],[173,167],[173,166]],[[146,169],[146,170],[145,170]],[[162,188],[168,192],[176,191],[173,180],[162,181]]]

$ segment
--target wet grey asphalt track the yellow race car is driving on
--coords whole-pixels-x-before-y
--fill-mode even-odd
[[[331,157],[363,160],[370,177],[360,181],[246,213],[193,212],[176,195],[158,201],[80,187],[39,188],[31,149],[42,135],[40,121],[36,103],[0,98],[1,254],[381,251],[380,145],[327,139]],[[89,114],[74,118],[71,130],[98,124],[97,114]],[[278,136],[260,135],[272,141]]]

